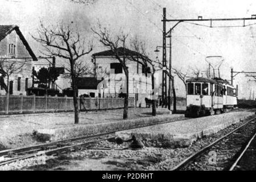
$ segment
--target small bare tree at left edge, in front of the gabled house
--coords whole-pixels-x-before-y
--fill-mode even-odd
[[[0,85],[3,89],[5,89],[5,92],[9,94],[9,82],[10,82],[10,76],[14,73],[19,73],[22,71],[22,68],[26,61],[13,61],[13,60],[7,60],[6,58],[1,58],[0,60]],[[6,78],[6,82],[5,82]]]

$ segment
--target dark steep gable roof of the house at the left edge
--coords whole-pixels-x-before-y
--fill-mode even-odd
[[[33,61],[37,61],[37,58],[34,52],[32,51],[31,47],[29,46],[29,43],[27,43],[27,40],[22,35],[22,32],[19,30],[19,27],[17,25],[0,25],[0,42],[2,39],[6,38],[6,36],[9,35],[14,30],[16,31],[17,35],[21,39],[23,45],[26,47]]]

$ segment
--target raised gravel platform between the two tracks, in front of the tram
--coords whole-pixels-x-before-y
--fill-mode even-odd
[[[238,111],[209,117],[186,119],[156,126],[119,131],[120,138],[131,138],[134,135],[148,147],[189,147],[203,136],[217,133],[241,119],[253,115],[253,112]]]

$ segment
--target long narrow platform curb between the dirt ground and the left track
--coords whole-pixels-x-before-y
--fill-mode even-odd
[[[183,117],[182,114],[170,115],[163,114],[157,117],[143,117],[136,119],[126,119],[116,122],[106,122],[90,125],[74,125],[70,127],[59,127],[55,129],[39,129],[34,132],[36,139],[45,142],[46,140],[70,139],[99,133],[106,133],[116,130],[126,130],[139,125],[149,125],[149,123],[159,123],[166,121],[178,121]]]

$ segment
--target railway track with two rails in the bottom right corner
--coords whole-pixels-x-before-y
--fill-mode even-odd
[[[190,155],[179,163],[172,171],[183,170],[229,170],[237,166],[239,159],[245,153],[251,140],[255,139],[256,117],[249,119],[243,125],[230,131],[223,137],[210,143],[200,151]],[[249,143],[246,141],[249,140]],[[252,139],[253,138],[253,139]],[[247,144],[246,147],[245,143]],[[241,151],[241,148],[244,150]],[[237,154],[241,155],[236,158]],[[235,159],[237,160],[235,160]],[[235,160],[235,162],[234,162]]]

